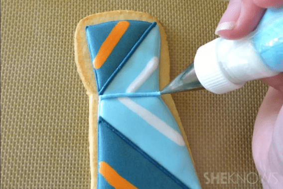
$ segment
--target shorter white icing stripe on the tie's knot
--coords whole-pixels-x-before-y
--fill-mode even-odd
[[[148,77],[153,73],[154,70],[158,68],[158,57],[154,56],[147,62],[145,68],[141,71],[141,73],[136,77],[136,79],[129,85],[126,92],[127,93],[133,93],[138,88],[141,87],[141,85],[148,79]]]

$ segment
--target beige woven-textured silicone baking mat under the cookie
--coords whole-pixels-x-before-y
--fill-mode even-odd
[[[214,39],[221,0],[1,0],[1,189],[89,189],[88,97],[74,31],[93,13],[148,12],[164,26],[170,78]],[[252,133],[268,86],[173,94],[203,189],[261,188]]]

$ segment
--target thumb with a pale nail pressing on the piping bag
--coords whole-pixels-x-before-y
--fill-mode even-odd
[[[260,22],[265,8],[252,0],[230,0],[215,34],[226,39],[238,39],[252,32]]]

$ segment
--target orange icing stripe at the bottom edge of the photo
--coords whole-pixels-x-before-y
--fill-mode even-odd
[[[126,179],[121,177],[110,165],[106,162],[99,163],[99,173],[105,180],[115,189],[138,189]]]

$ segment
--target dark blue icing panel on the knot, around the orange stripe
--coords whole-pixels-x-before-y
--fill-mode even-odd
[[[107,84],[108,79],[121,64],[133,46],[141,38],[144,31],[152,24],[145,21],[127,20],[130,25],[120,41],[114,47],[112,53],[106,59],[101,68],[95,69],[96,82],[99,94],[101,89]],[[113,27],[119,21],[105,22],[96,25],[86,26],[86,36],[90,51],[91,61],[93,62],[99,48],[105,41]]]

